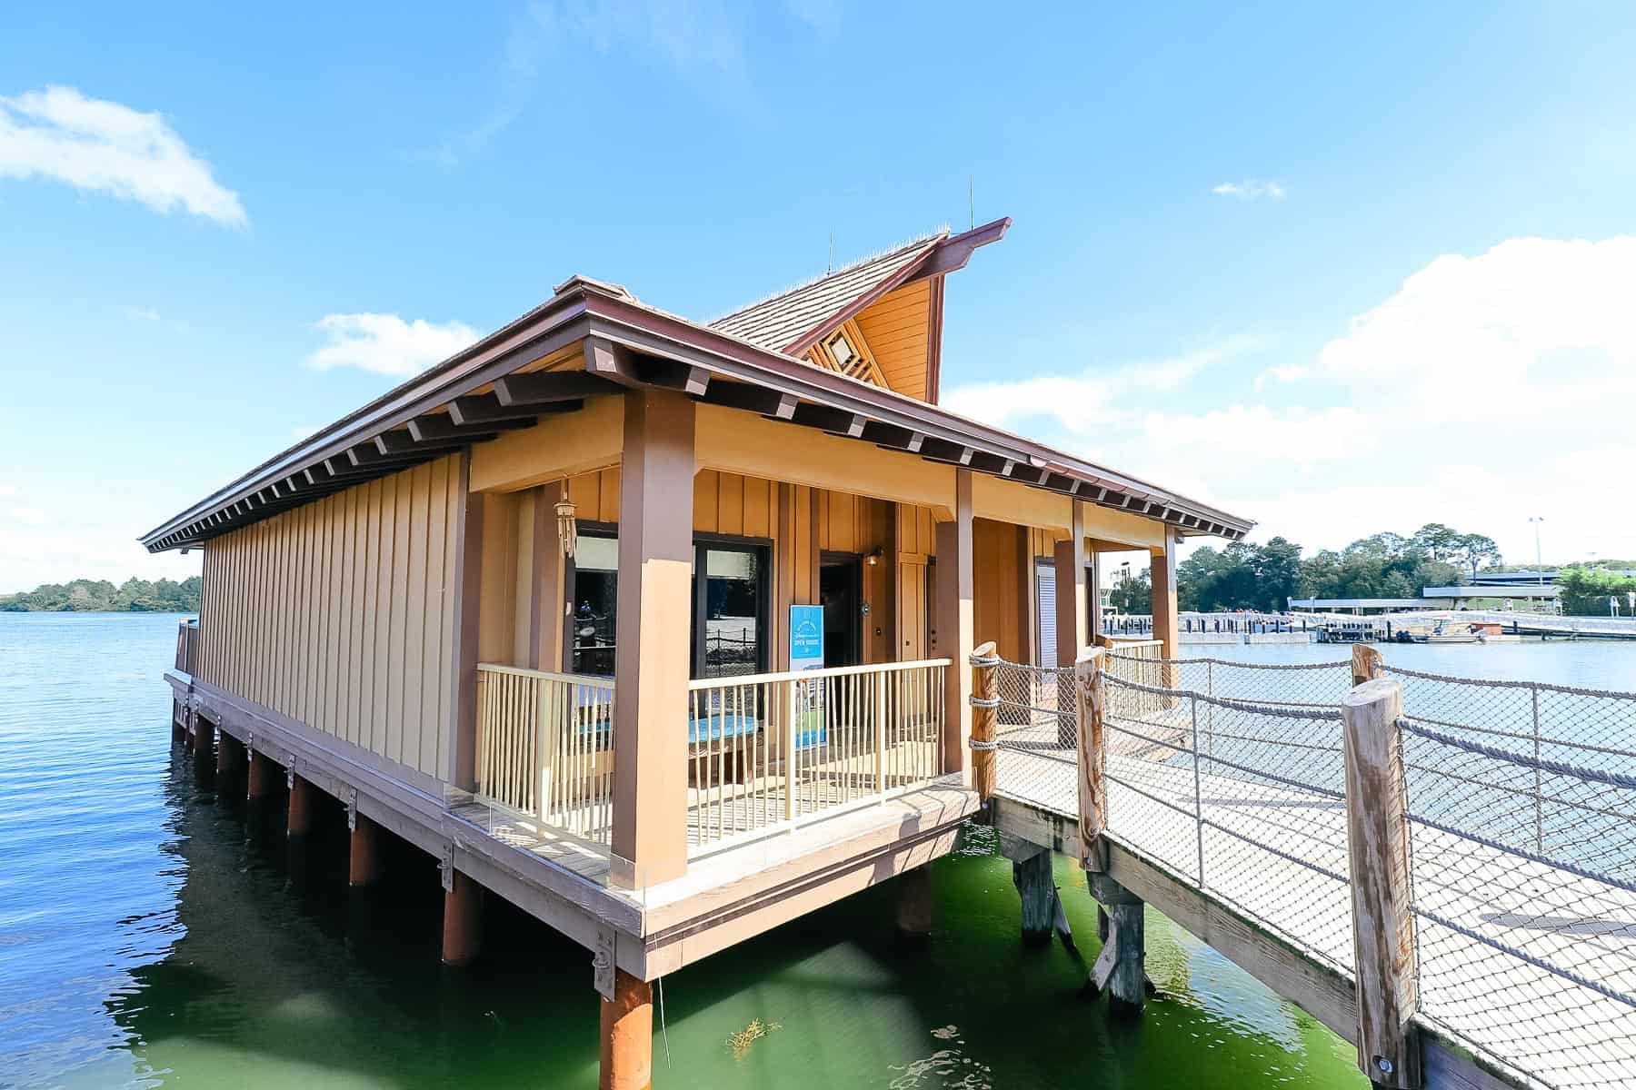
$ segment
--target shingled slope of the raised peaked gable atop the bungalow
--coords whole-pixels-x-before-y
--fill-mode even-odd
[[[821,332],[836,314],[851,309],[852,304],[879,293],[883,286],[897,286],[911,266],[947,237],[947,227],[921,235],[895,250],[864,258],[834,273],[825,273],[771,299],[753,302],[710,322],[710,328],[748,340],[757,348],[785,353],[803,351],[815,340],[811,335]]]

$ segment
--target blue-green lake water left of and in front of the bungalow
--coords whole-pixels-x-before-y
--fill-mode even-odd
[[[303,850],[169,748],[175,621],[0,614],[0,1087],[594,1087],[589,954],[489,899],[486,956],[438,964],[435,863],[366,896],[345,820]],[[1094,909],[1057,861],[1083,958]],[[975,829],[933,869],[937,927],[877,887],[666,977],[658,1087],[1364,1087],[1350,1046],[1148,914],[1137,1021],[1086,961],[1018,941]],[[779,1028],[735,1056],[753,1020]]]

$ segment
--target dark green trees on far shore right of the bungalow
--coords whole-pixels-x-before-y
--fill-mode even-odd
[[[1443,523],[1427,523],[1407,538],[1373,534],[1304,559],[1301,546],[1284,538],[1235,541],[1225,549],[1206,546],[1176,565],[1176,601],[1201,613],[1271,613],[1288,610],[1291,598],[1418,598],[1423,587],[1458,587],[1499,561],[1492,538]],[[1147,600],[1134,611],[1145,613]]]

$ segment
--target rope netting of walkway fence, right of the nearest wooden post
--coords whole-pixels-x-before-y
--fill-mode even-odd
[[[1636,1087],[1636,696],[1404,690],[1420,1013],[1553,1087]]]

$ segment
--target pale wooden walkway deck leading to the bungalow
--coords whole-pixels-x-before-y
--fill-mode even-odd
[[[1175,713],[1137,726],[1188,747]],[[1076,755],[1055,735],[1055,721],[1001,730],[996,822],[1072,855]],[[1134,884],[1119,881],[1355,1039],[1345,802],[1202,765],[1163,747],[1109,752],[1108,840]],[[1636,994],[1636,894],[1433,829],[1414,838],[1427,1085],[1636,1087],[1636,1010],[1544,967]],[[1472,1046],[1489,1059],[1459,1061]]]

